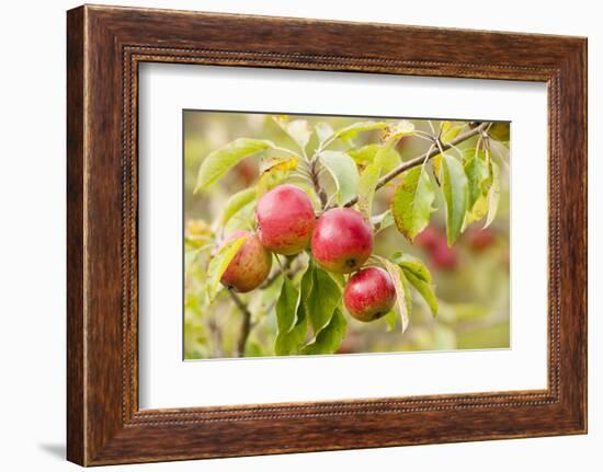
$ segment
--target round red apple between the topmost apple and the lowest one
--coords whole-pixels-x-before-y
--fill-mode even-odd
[[[346,274],[362,267],[373,252],[373,228],[351,208],[326,211],[312,234],[312,254],[320,266]]]

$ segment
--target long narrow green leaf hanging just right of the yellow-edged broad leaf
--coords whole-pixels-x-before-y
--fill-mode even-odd
[[[452,246],[463,229],[469,188],[463,164],[450,154],[442,157],[442,193],[446,204],[446,239]]]

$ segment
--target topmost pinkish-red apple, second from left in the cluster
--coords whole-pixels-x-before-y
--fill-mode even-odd
[[[294,185],[278,185],[265,193],[255,210],[258,234],[263,246],[285,255],[305,250],[316,225],[308,195]]]

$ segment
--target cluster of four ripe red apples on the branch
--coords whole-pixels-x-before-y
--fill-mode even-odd
[[[226,242],[247,239],[221,276],[221,283],[239,292],[251,291],[269,276],[272,253],[295,255],[310,247],[325,270],[352,275],[343,302],[352,316],[368,322],[382,318],[396,302],[396,288],[380,267],[363,264],[373,253],[373,227],[351,208],[333,208],[318,219],[308,195],[284,184],[265,193],[255,210],[257,232],[238,231]]]

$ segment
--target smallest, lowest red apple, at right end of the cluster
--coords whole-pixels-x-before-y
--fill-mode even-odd
[[[396,287],[389,274],[380,267],[366,267],[348,280],[343,302],[359,321],[377,320],[396,303]]]

